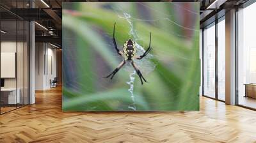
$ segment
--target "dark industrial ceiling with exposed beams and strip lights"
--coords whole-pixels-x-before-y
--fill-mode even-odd
[[[36,41],[52,42],[61,46],[61,3],[74,1],[85,0],[30,0],[30,3],[29,0],[1,0],[1,20],[12,20],[17,17],[24,20],[35,20],[37,22]],[[172,1],[180,2],[182,0]],[[182,2],[188,1],[200,2],[200,26],[202,27],[207,20],[221,10],[228,10],[228,8],[243,4],[248,0],[183,0]]]

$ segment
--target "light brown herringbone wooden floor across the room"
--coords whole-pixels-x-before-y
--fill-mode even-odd
[[[0,116],[0,142],[256,142],[256,112],[200,98],[200,112],[63,113],[61,88]]]

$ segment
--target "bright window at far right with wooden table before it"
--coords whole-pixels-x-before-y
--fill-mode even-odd
[[[237,12],[238,104],[256,109],[256,3]]]

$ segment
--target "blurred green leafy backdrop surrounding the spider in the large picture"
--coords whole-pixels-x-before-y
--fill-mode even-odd
[[[129,38],[152,50],[113,80]],[[63,111],[199,110],[199,3],[63,3]],[[143,51],[139,49],[138,55]],[[135,78],[134,82],[127,84]]]

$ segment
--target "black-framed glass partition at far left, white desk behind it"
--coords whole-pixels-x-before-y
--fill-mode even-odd
[[[12,1],[14,8],[25,8],[26,3]],[[3,8],[0,11],[10,14],[0,15],[0,114],[3,114],[29,104],[29,22]]]

